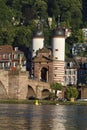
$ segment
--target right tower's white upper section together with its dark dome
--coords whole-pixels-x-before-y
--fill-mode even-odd
[[[58,27],[53,32],[52,39],[53,57],[55,60],[65,60],[65,30]]]

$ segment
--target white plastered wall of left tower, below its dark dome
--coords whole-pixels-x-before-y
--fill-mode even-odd
[[[44,38],[33,38],[32,41],[32,57],[36,56],[36,52],[44,47]]]

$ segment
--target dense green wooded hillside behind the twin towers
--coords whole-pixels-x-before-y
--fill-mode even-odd
[[[84,42],[78,28],[87,27],[86,0],[0,0],[0,44],[24,44],[30,46],[34,20],[43,19],[46,44],[51,44],[51,32],[57,26],[58,15],[61,25],[72,28],[70,42]],[[52,17],[52,28],[47,19]],[[83,18],[83,19],[82,19]]]

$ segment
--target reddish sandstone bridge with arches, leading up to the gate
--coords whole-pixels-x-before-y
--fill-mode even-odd
[[[37,98],[42,97],[43,90],[51,91],[49,83],[29,79],[28,72],[1,71],[0,73],[0,99],[26,99],[29,86]]]

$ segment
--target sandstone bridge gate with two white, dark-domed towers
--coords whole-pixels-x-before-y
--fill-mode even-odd
[[[58,26],[53,30],[51,49],[48,49],[44,46],[44,33],[39,24],[32,39],[30,77],[64,85],[65,38],[65,29]]]

